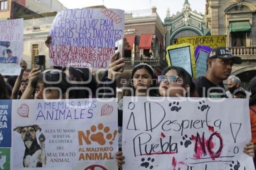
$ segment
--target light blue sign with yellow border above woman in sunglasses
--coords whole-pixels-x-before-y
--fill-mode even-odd
[[[195,77],[195,57],[194,49],[191,44],[170,45],[167,47],[166,59],[168,65],[184,68],[191,77]]]

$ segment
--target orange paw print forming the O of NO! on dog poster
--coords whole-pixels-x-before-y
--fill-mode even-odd
[[[106,143],[105,139],[112,139],[111,141],[109,141],[109,144],[113,144],[113,141],[117,135],[117,130],[114,130],[114,134],[112,135],[111,133],[108,133],[110,131],[110,128],[108,126],[104,127],[102,123],[99,123],[98,127],[96,127],[95,125],[91,126],[91,132],[96,132],[97,129],[100,130],[101,132],[92,134],[90,137],[92,141],[97,142],[100,145],[104,145]]]

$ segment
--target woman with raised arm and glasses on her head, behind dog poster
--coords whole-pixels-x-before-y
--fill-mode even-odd
[[[72,93],[67,94],[71,84],[68,77],[61,70],[52,69],[40,71],[34,68],[29,74],[29,84],[21,99],[67,99],[72,98]],[[34,94],[33,94],[34,92]]]

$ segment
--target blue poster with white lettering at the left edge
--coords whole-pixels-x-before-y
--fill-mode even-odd
[[[0,100],[0,147],[11,147],[11,100]]]

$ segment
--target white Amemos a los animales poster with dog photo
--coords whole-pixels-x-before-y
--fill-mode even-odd
[[[12,101],[11,169],[117,169],[117,104]]]

